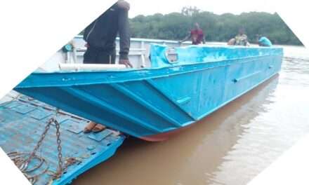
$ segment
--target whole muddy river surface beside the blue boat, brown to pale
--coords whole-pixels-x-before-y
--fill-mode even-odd
[[[246,184],[309,133],[306,57],[167,142],[128,139],[74,184]]]

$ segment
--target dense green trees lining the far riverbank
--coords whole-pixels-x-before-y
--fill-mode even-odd
[[[262,34],[276,44],[302,44],[277,13],[216,15],[195,7],[186,7],[181,13],[167,15],[138,15],[130,20],[131,35],[135,38],[181,40],[195,22],[206,33],[206,41],[228,41],[243,27],[251,43],[256,40],[256,34]]]

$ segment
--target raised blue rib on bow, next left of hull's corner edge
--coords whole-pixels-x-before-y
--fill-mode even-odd
[[[168,121],[169,123],[172,123],[176,127],[182,127],[182,125],[176,121],[175,119],[171,118],[170,116],[166,115],[164,112],[161,110],[157,109],[156,107],[152,106],[148,102],[145,102],[145,100],[141,99],[138,95],[133,93],[131,90],[118,85],[116,83],[110,84],[112,88],[118,90],[120,93],[123,95],[126,95],[126,97],[131,98],[135,102],[138,102],[138,104],[142,105],[143,107],[147,108],[148,110],[152,111],[152,113],[156,114],[157,116],[160,116],[161,118],[164,118],[164,120]]]

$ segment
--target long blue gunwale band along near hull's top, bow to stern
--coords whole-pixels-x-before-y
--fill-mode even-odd
[[[230,60],[218,60],[214,62],[192,62],[188,64],[174,64],[169,67],[156,67],[156,68],[143,68],[143,69],[125,69],[125,70],[104,70],[104,71],[55,71],[55,72],[33,72],[29,76],[34,76],[34,78],[46,78],[46,76],[55,76],[53,80],[48,79],[47,84],[45,79],[39,79],[34,84],[31,81],[27,81],[25,78],[20,84],[15,88],[40,88],[40,87],[64,87],[72,85],[96,85],[102,83],[125,83],[129,81],[140,81],[147,80],[151,78],[162,78],[166,76],[174,76],[179,74],[192,73],[196,71],[203,71],[205,69],[213,69],[216,67],[225,67],[232,64],[241,64],[246,62],[256,62],[267,57],[283,57],[283,53],[276,55],[261,55],[261,56],[250,56],[250,57],[239,57]],[[201,67],[202,66],[202,67]],[[177,70],[175,70],[178,68]],[[186,69],[189,68],[189,69]],[[163,71],[163,72],[162,72]],[[91,74],[91,78],[76,78],[79,75],[84,76],[85,74]],[[103,78],[98,74],[103,74]],[[131,74],[130,76],[128,76]],[[119,76],[120,75],[120,76]],[[122,76],[121,76],[122,75]],[[69,76],[72,76],[69,78]],[[96,76],[96,78],[93,78]],[[132,78],[132,76],[134,78]],[[61,79],[59,78],[61,77]],[[38,83],[39,82],[39,83]]]

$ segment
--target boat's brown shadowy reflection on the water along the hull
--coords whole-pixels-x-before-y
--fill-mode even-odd
[[[200,179],[223,163],[250,121],[267,111],[265,105],[272,103],[269,97],[277,88],[278,76],[165,142],[129,137],[115,156],[82,174],[74,184],[179,184],[180,180],[184,184],[200,184]],[[202,169],[197,172],[197,167]]]

